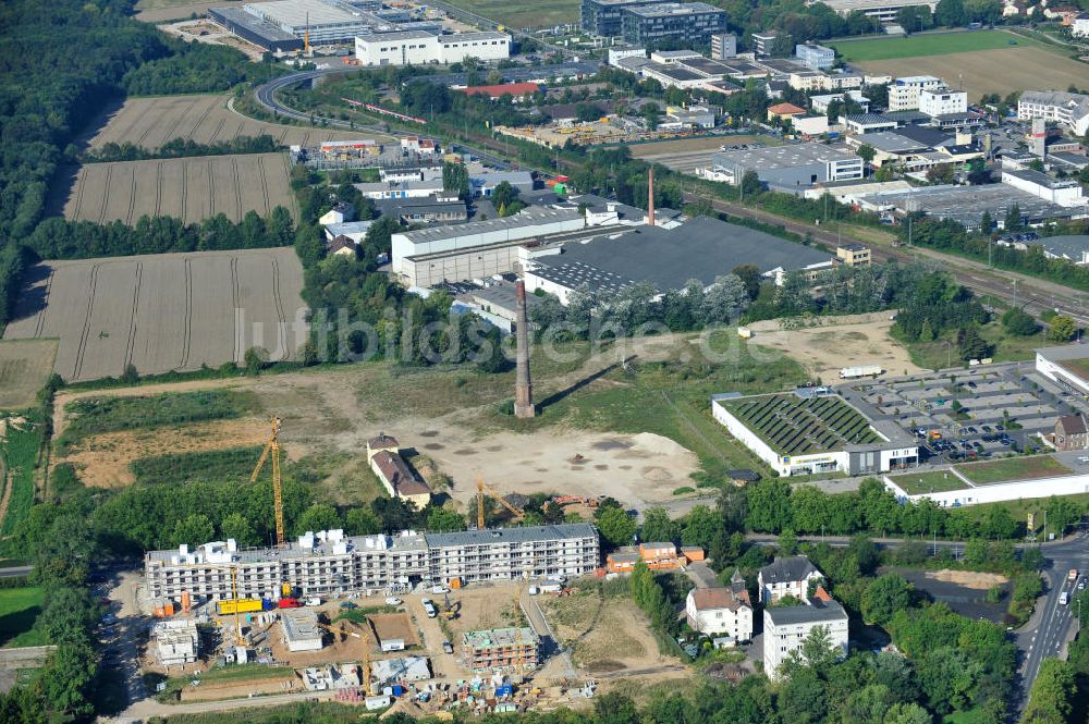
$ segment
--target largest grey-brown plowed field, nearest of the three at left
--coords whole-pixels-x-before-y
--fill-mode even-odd
[[[306,339],[294,249],[198,251],[53,261],[20,297],[4,340],[59,338],[65,380],[241,363],[261,346],[294,359]]]

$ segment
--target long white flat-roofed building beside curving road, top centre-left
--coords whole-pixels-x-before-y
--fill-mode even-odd
[[[402,30],[355,38],[355,57],[363,65],[449,64],[470,56],[485,61],[510,58],[511,36],[491,30],[454,35]]]

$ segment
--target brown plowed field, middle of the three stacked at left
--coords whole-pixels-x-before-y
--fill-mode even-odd
[[[266,216],[277,206],[294,212],[283,154],[207,156],[159,161],[88,163],[79,168],[64,203],[64,217],[135,223],[142,216],[200,221],[247,211]]]

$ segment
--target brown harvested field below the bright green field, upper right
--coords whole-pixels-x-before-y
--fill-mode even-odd
[[[1011,35],[1011,39],[1016,37]],[[1005,96],[1030,88],[1066,90],[1070,84],[1084,86],[1089,78],[1089,63],[1025,40],[1019,42],[1001,50],[867,61],[857,65],[871,75],[937,75],[967,90],[971,102],[988,93]]]

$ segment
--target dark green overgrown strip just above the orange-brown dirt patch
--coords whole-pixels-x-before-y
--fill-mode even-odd
[[[257,409],[257,397],[244,390],[176,392],[149,397],[84,397],[65,408],[71,421],[63,440],[71,443],[103,432],[233,419]]]

